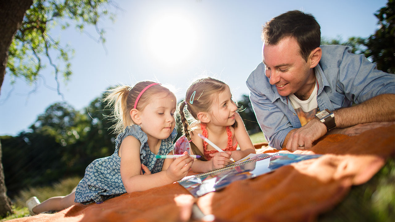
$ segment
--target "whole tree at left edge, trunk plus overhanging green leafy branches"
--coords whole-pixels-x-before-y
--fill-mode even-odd
[[[6,66],[11,77],[24,78],[34,84],[40,77],[40,70],[45,67],[43,58],[47,58],[54,68],[57,92],[62,95],[59,75],[67,80],[72,74],[72,49],[52,38],[51,28],[60,26],[64,29],[71,22],[82,32],[86,25],[92,25],[98,33],[98,41],[104,43],[104,31],[98,27],[98,21],[102,17],[113,18],[108,6],[118,8],[111,0],[0,0],[0,92]],[[58,54],[54,56],[50,52]],[[0,162],[0,216],[10,212]]]

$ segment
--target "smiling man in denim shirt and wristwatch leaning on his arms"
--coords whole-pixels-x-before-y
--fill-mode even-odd
[[[320,38],[315,18],[297,10],[263,27],[263,62],[246,84],[271,147],[310,149],[327,133],[356,135],[395,120],[394,75]]]

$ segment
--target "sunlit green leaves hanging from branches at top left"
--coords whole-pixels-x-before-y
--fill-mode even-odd
[[[98,42],[105,43],[105,32],[98,23],[103,17],[114,21],[108,5],[117,8],[112,0],[34,0],[8,50],[7,68],[13,79],[11,83],[15,82],[15,77],[24,77],[30,84],[36,83],[40,70],[46,66],[43,57],[53,67],[57,82],[59,75],[68,80],[72,74],[70,57],[73,49],[69,45],[62,46],[59,38],[51,36],[51,30],[59,26],[64,30],[70,23],[74,23],[80,32],[85,26],[94,26]],[[59,86],[57,90],[61,94]]]

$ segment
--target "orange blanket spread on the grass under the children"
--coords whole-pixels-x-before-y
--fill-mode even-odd
[[[12,222],[198,221],[196,205],[204,214],[213,214],[216,221],[312,221],[337,205],[352,185],[371,179],[386,158],[393,158],[394,132],[392,125],[354,137],[324,136],[312,149],[295,151],[324,156],[233,182],[200,198],[174,183],[124,194],[102,204],[74,205],[55,214]],[[258,151],[275,150],[265,147]]]

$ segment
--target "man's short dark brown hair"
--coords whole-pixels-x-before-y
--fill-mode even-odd
[[[262,41],[266,45],[276,45],[285,37],[295,38],[300,54],[307,62],[311,51],[320,47],[320,24],[313,15],[293,10],[278,15],[263,25]]]

